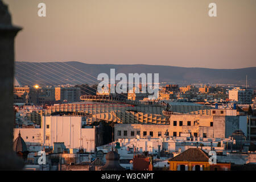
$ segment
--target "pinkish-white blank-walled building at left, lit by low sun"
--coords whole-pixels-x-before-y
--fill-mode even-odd
[[[18,134],[28,144],[53,146],[54,142],[64,142],[66,148],[84,148],[94,152],[96,128],[82,128],[80,116],[42,117],[40,129],[14,129],[14,140]]]

